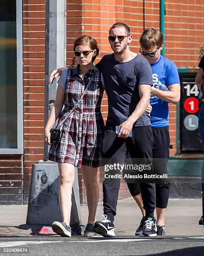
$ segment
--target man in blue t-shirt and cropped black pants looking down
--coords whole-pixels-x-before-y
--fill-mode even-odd
[[[161,56],[163,35],[157,28],[147,28],[142,33],[139,43],[141,45],[140,54],[149,61],[152,67],[153,87],[151,89],[150,105],[152,105],[151,126],[154,172],[165,174],[167,173],[170,144],[168,103],[177,104],[180,100],[179,74],[174,62]],[[136,202],[141,202],[141,195],[138,194],[138,184],[128,184],[128,187]],[[169,199],[169,187],[169,183],[158,183],[156,180],[157,235],[165,236],[164,217]],[[139,207],[141,208],[141,205]],[[144,218],[142,218],[135,234],[141,235],[143,229]]]

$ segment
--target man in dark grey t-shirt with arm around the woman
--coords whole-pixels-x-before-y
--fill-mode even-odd
[[[115,23],[109,30],[109,44],[114,54],[105,55],[97,64],[108,97],[102,156],[104,162],[109,159],[111,163],[114,160],[114,163],[123,164],[129,159],[133,162],[140,159],[142,164],[149,164],[152,160],[152,129],[145,110],[153,85],[152,70],[147,59],[129,50],[131,41],[129,27],[124,23]],[[118,135],[116,125],[120,126]],[[132,137],[128,137],[130,131]],[[113,173],[118,174],[116,169]],[[97,221],[93,229],[104,237],[115,236],[113,221],[119,187],[120,179],[110,177],[103,182],[104,220]],[[143,235],[157,236],[155,184],[140,183],[140,190],[145,210]]]

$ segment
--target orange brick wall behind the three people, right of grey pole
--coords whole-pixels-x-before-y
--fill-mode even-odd
[[[173,2],[173,3],[172,3]],[[96,38],[100,46],[100,58],[112,52],[107,40],[110,26],[122,21],[131,28],[134,40],[132,51],[139,51],[139,37],[145,28],[159,28],[159,1],[127,0],[71,0],[67,5],[67,63],[72,61],[72,43],[75,36],[88,34]],[[204,8],[202,1],[165,1],[165,56],[177,67],[197,67],[198,49],[204,41]],[[73,33],[74,31],[77,31]],[[96,60],[97,62],[97,60]],[[102,101],[104,120],[107,118],[107,96]],[[176,106],[169,104],[170,155],[176,154]],[[80,176],[81,177],[81,176]],[[80,182],[81,202],[85,203],[85,186]],[[101,200],[100,195],[100,200]],[[122,184],[119,198],[129,196]]]

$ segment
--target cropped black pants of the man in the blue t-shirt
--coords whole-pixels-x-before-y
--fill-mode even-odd
[[[170,137],[169,137],[169,126],[152,128],[153,134],[153,149],[152,156],[153,159],[160,159],[157,166],[154,166],[155,172],[157,169],[161,173],[167,173],[167,161],[169,157],[169,145],[170,145]],[[154,162],[153,162],[154,163]],[[140,193],[139,184],[127,184],[129,188],[129,192],[132,196],[138,195]],[[156,183],[156,207],[158,208],[167,208],[168,200],[169,200],[169,189],[170,183]]]

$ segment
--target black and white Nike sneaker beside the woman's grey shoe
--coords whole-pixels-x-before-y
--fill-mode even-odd
[[[114,224],[108,219],[107,215],[102,215],[102,221],[96,221],[93,226],[94,232],[104,237],[115,237]]]

